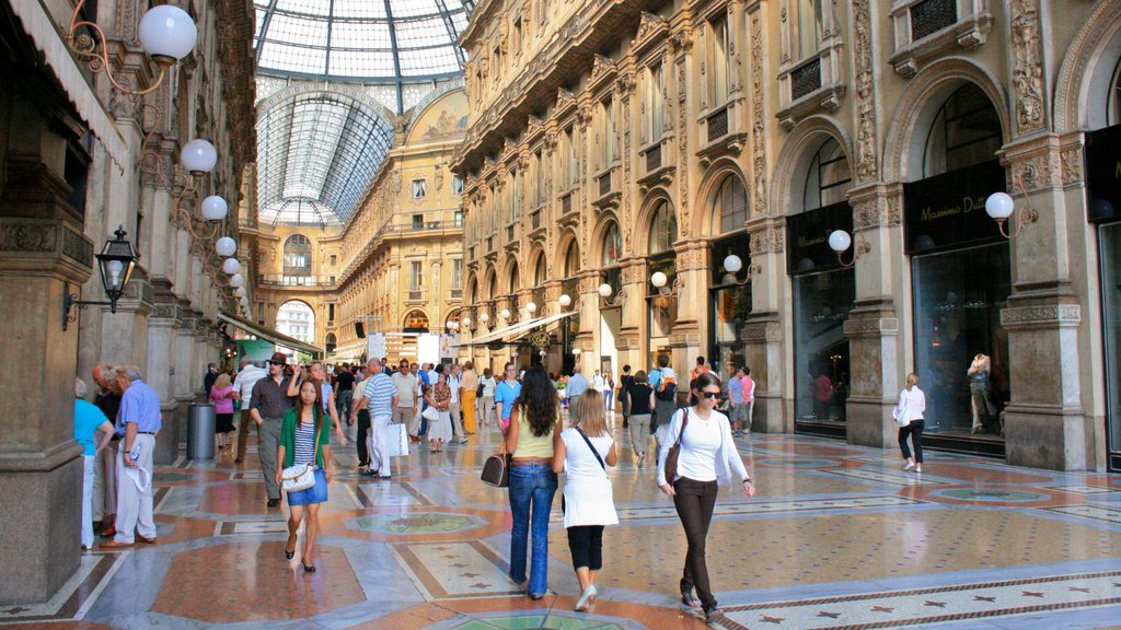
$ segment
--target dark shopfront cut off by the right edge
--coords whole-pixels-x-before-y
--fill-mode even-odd
[[[1105,434],[1109,467],[1121,471],[1121,124],[1086,133],[1087,219],[1097,226]]]

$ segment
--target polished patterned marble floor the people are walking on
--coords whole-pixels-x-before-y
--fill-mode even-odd
[[[266,507],[256,453],[244,464],[229,452],[180,458],[156,474],[156,545],[85,554],[53,600],[0,608],[0,626],[704,628],[674,595],[685,539],[673,503],[621,429],[611,471],[621,524],[604,535],[594,608],[573,611],[559,499],[549,595],[526,599],[507,577],[507,495],[479,481],[497,444],[483,433],[443,453],[414,450],[391,481],[359,476],[353,445],[336,448],[314,574],[298,554],[284,557],[287,509]],[[720,628],[1121,627],[1121,475],[945,453],[929,453],[918,475],[896,451],[823,438],[752,435],[739,446],[759,495],[722,490],[717,502],[708,566]]]

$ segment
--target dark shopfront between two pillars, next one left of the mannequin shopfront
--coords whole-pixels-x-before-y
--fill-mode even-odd
[[[830,249],[827,234],[852,233],[852,209],[835,203],[787,217],[787,269],[794,297],[795,432],[845,437],[850,381],[844,322],[856,297],[852,267]]]

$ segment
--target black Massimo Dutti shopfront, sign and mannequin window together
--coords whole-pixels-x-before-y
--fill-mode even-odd
[[[1011,261],[984,204],[1004,186],[998,160],[904,185],[915,371],[932,446],[1003,455],[1010,395],[1000,312],[1011,293]]]

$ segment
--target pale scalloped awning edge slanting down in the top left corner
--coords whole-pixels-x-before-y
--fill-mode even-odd
[[[123,169],[132,164],[129,159],[128,150],[124,147],[124,138],[117,129],[117,126],[105,113],[101,101],[93,93],[90,84],[85,82],[82,71],[74,63],[66,48],[66,43],[58,35],[50,17],[43,8],[41,2],[35,0],[16,0],[11,4],[20,21],[24,22],[24,30],[31,36],[35,45],[43,50],[43,56],[47,65],[54,71],[55,77],[66,91],[66,95],[77,110],[77,114],[90,126],[93,135],[101,140],[102,146],[109,157]],[[65,11],[68,13],[70,11]],[[63,13],[63,15],[65,15]],[[68,26],[68,25],[64,25]]]

